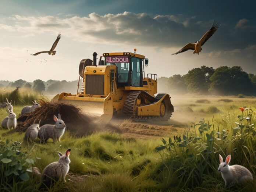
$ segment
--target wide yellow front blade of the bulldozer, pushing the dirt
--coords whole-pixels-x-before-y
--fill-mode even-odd
[[[100,117],[100,121],[109,122],[113,116],[113,93],[105,98],[77,97],[70,93],[57,94],[52,102],[72,104],[86,115]]]

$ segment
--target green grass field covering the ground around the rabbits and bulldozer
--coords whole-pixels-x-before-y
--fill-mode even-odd
[[[21,142],[19,146],[35,160],[33,166],[40,171],[58,160],[57,151],[64,153],[70,147],[67,182],[58,182],[51,191],[255,191],[255,180],[245,187],[235,185],[224,189],[217,168],[218,154],[224,158],[231,154],[231,165],[241,164],[255,176],[256,136],[254,125],[248,125],[256,123],[256,99],[183,95],[173,96],[171,101],[175,112],[168,122],[113,121],[122,134],[98,132],[74,138],[66,131],[61,142],[54,144],[50,139],[47,144],[40,144],[39,139],[34,143],[23,142],[24,133],[1,129],[0,140]],[[243,106],[252,108],[250,123],[238,118],[239,107]],[[14,106],[17,116],[22,107]],[[6,116],[0,110],[0,121]],[[235,133],[237,129],[233,128],[238,127],[235,122],[245,128]],[[129,126],[138,127],[139,131],[134,129],[130,134]],[[174,136],[181,139],[174,140]],[[2,177],[1,191],[36,191],[40,179],[28,174],[28,181],[11,183],[3,182]]]

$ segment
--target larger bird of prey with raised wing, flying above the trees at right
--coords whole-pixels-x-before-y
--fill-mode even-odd
[[[214,21],[213,26],[210,28],[209,31],[205,33],[205,35],[199,41],[196,41],[195,43],[188,43],[187,45],[182,47],[181,50],[179,50],[176,53],[173,53],[172,55],[177,55],[178,53],[185,52],[189,49],[194,50],[193,52],[194,54],[195,53],[199,54],[199,52],[202,50],[201,46],[203,46],[203,44],[205,44],[205,42],[213,35],[213,33],[217,31],[219,26],[220,26],[220,23],[219,22],[216,23]]]

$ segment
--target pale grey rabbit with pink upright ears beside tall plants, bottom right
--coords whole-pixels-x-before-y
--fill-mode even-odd
[[[247,168],[240,165],[228,165],[231,160],[231,155],[228,155],[225,162],[223,162],[223,158],[219,154],[219,160],[220,166],[218,167],[218,171],[225,181],[225,187],[236,183],[243,184],[245,181],[253,180],[252,173],[250,173]]]

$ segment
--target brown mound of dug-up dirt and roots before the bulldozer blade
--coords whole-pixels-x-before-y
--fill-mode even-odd
[[[81,110],[74,105],[50,103],[46,100],[39,100],[39,103],[41,107],[17,118],[16,131],[25,132],[26,129],[33,124],[34,120],[41,120],[40,126],[45,124],[53,125],[53,115],[57,116],[58,113],[60,113],[61,119],[66,124],[66,129],[75,136],[88,135],[102,130],[121,132],[121,130],[114,125],[96,123],[99,119],[83,114]]]

